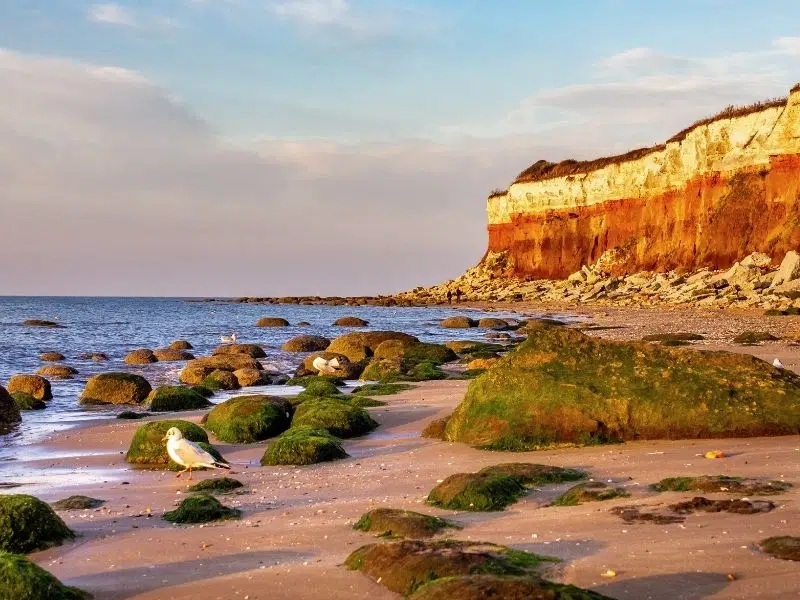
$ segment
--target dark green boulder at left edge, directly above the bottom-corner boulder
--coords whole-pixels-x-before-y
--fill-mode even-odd
[[[25,494],[0,495],[0,550],[27,554],[74,537],[46,502]]]

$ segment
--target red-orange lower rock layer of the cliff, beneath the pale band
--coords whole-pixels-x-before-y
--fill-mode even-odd
[[[645,199],[512,215],[489,225],[489,250],[508,251],[515,274],[562,279],[621,248],[617,275],[730,266],[751,252],[780,262],[800,249],[800,155],[770,166],[698,177]]]

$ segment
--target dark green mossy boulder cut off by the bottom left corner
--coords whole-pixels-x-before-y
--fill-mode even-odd
[[[90,600],[91,594],[61,583],[33,561],[0,552],[2,600]]]

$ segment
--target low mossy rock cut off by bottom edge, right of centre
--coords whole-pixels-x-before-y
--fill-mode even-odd
[[[538,577],[466,575],[435,579],[420,587],[410,600],[611,600],[592,590],[554,583]]]

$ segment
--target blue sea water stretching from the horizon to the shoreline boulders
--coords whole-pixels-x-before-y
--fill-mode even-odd
[[[446,330],[441,319],[458,314],[452,308],[330,307],[295,305],[254,305],[186,302],[175,298],[25,298],[0,297],[0,384],[15,373],[33,373],[42,363],[39,354],[55,350],[67,358],[64,364],[78,369],[72,380],[51,381],[53,400],[42,411],[27,411],[22,424],[12,433],[0,436],[0,479],[3,464],[32,455],[35,444],[47,435],[74,427],[87,419],[112,418],[118,408],[82,408],[77,398],[86,379],[104,371],[124,370],[145,376],[155,387],[177,383],[183,363],[154,363],[129,366],[126,353],[136,348],[160,348],[175,339],[187,339],[195,356],[208,355],[219,345],[221,334],[235,331],[240,342],[264,344],[268,357],[262,363],[268,370],[291,374],[304,355],[280,350],[287,339],[313,333],[329,338],[348,331],[331,324],[338,317],[355,315],[366,319],[370,329],[392,329],[416,335],[423,341],[482,339],[482,330]],[[481,313],[474,313],[476,316]],[[310,327],[257,328],[259,317],[276,316],[290,323],[307,321]],[[494,313],[497,316],[497,313]],[[502,316],[502,315],[500,315]],[[511,316],[511,315],[509,315]],[[24,327],[25,319],[58,321],[63,329]],[[106,362],[81,360],[84,352],[105,352]],[[286,386],[258,388],[261,393],[289,395],[297,389]],[[252,393],[252,388],[247,392]],[[220,401],[229,395],[217,395]]]

